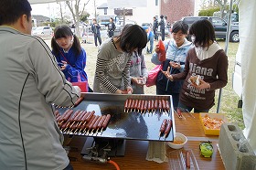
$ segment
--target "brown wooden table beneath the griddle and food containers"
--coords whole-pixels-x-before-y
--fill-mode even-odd
[[[184,119],[179,119],[176,117],[176,132],[183,133],[187,136],[188,142],[185,145],[184,149],[191,149],[195,154],[197,159],[197,165],[200,169],[208,170],[221,170],[225,169],[222,163],[222,160],[219,155],[217,148],[218,137],[219,136],[210,136],[205,135],[201,122],[199,121],[199,115],[197,113],[192,113],[194,117],[188,113],[184,113]],[[201,141],[212,141],[214,147],[214,154],[211,158],[204,158],[199,154],[199,143]],[[71,149],[69,152],[69,158],[71,165],[73,165],[75,170],[82,169],[110,169],[113,170],[115,167],[111,164],[97,164],[94,162],[87,162],[81,159],[80,151],[83,144],[86,141],[84,136],[75,136],[69,146]],[[170,169],[168,162],[158,164],[154,161],[146,161],[148,142],[147,141],[135,141],[135,140],[126,140],[126,152],[124,157],[112,157],[111,160],[117,163],[121,170],[123,169]],[[167,154],[174,151],[173,149],[167,147]]]

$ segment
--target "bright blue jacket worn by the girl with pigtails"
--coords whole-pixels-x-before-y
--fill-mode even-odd
[[[55,55],[55,54],[54,54]],[[66,61],[67,67],[63,69],[63,73],[66,80],[69,82],[87,81],[87,74],[84,71],[86,66],[86,52],[81,48],[80,55],[75,56],[74,48],[69,48],[68,52],[64,52],[63,48],[60,48],[59,55],[55,55],[58,62]]]

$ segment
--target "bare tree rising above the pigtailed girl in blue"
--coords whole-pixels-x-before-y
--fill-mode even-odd
[[[73,5],[74,2],[74,5]],[[80,37],[80,17],[82,14],[84,14],[84,9],[85,9],[85,5],[88,5],[88,3],[90,2],[90,0],[87,1],[87,3],[80,3],[80,0],[75,0],[75,1],[66,1],[66,4],[69,7],[69,10],[71,12],[71,15],[73,17],[73,20],[75,22],[75,26],[76,26],[76,35],[78,37]],[[80,5],[82,5],[82,9],[80,11]]]

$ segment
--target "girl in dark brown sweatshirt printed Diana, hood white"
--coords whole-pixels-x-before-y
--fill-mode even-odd
[[[182,111],[208,112],[214,105],[215,90],[228,83],[228,57],[216,42],[214,27],[208,19],[195,22],[189,29],[195,48],[187,53],[185,69],[178,74],[163,71],[171,81],[185,80],[178,108]]]

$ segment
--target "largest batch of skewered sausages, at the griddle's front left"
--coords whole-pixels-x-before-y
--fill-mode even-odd
[[[62,133],[99,133],[106,129],[111,114],[95,115],[95,112],[66,110],[62,115],[58,110],[55,111],[55,117]]]

